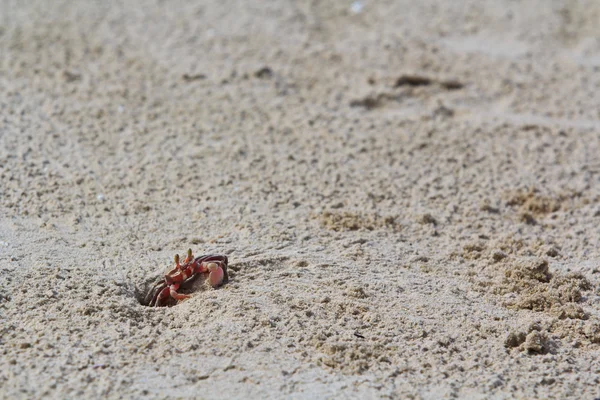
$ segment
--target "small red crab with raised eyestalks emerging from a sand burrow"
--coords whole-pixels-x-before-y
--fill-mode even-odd
[[[179,254],[175,254],[175,267],[148,292],[146,304],[150,307],[161,307],[166,305],[170,298],[178,302],[189,298],[189,295],[177,291],[181,285],[203,273],[208,273],[207,280],[213,288],[226,283],[229,280],[227,256],[211,254],[194,258],[192,249],[188,249],[187,257],[180,263]]]

